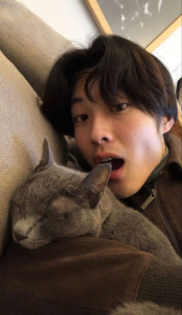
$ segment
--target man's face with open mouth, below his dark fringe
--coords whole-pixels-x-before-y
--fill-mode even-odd
[[[84,83],[80,80],[72,95],[76,143],[92,168],[107,160],[112,163],[109,187],[117,197],[127,198],[144,185],[165,153],[162,125],[158,131],[154,118],[137,109],[124,93],[109,109],[98,84],[91,91],[96,103],[91,102]]]

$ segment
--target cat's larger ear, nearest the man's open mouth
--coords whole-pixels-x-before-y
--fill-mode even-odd
[[[109,163],[97,166],[74,190],[74,197],[78,198],[82,204],[89,203],[91,209],[95,208],[103,195],[110,172]]]

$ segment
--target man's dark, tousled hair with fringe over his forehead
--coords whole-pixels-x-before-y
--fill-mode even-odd
[[[140,110],[160,126],[161,116],[177,118],[173,80],[166,67],[137,43],[117,35],[101,35],[88,48],[61,55],[50,71],[42,97],[42,112],[64,135],[74,136],[71,96],[75,84],[86,75],[85,93],[99,83],[102,99],[112,108],[123,91]]]

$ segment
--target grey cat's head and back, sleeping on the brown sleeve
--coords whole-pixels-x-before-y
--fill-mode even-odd
[[[58,166],[44,139],[39,165],[17,189],[11,203],[16,243],[34,249],[63,238],[89,234],[129,244],[179,264],[166,236],[138,211],[121,203],[106,187],[111,166],[89,174]]]

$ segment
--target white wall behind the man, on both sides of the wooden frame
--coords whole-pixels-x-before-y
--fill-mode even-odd
[[[19,1],[75,45],[74,41],[86,45],[91,36],[99,34],[83,0]],[[181,26],[154,51],[154,54],[167,66],[176,82],[182,72]]]

